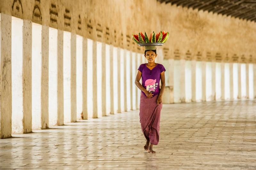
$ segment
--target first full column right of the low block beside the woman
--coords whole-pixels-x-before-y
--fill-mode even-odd
[[[186,101],[186,87],[185,87],[185,60],[180,59],[180,101],[185,103]]]

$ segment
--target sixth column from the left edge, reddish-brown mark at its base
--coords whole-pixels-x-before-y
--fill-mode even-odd
[[[83,118],[88,119],[87,113],[87,38],[83,37]]]

